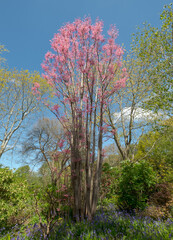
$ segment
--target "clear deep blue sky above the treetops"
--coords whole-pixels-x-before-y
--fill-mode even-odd
[[[0,0],[0,44],[10,68],[40,71],[54,33],[76,18],[97,17],[104,22],[104,33],[115,24],[117,42],[130,48],[131,34],[144,22],[160,25],[160,13],[170,0]],[[12,159],[10,157],[10,159]],[[15,156],[11,167],[17,167]]]

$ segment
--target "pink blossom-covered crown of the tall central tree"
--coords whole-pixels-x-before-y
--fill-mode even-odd
[[[65,132],[65,137],[57,143],[59,151],[54,158],[56,161],[63,158],[64,162],[70,158],[74,169],[85,156],[89,156],[90,161],[93,160],[96,154],[92,149],[93,141],[97,141],[99,131],[104,134],[108,131],[105,123],[100,128],[98,124],[104,118],[107,104],[114,99],[115,91],[125,86],[125,68],[113,86],[116,71],[121,70],[123,49],[115,42],[118,35],[115,26],[111,26],[108,34],[106,40],[103,36],[103,22],[98,19],[95,24],[91,24],[90,18],[67,23],[54,35],[51,41],[52,53],[45,55],[42,64],[45,73],[43,77],[54,91],[52,102],[55,105],[50,109],[62,123]],[[37,83],[34,84],[34,94],[39,93],[39,87]],[[90,139],[88,136],[91,136]],[[70,150],[66,149],[67,140]],[[74,155],[71,159],[73,144],[84,154]],[[74,169],[71,169],[72,177],[79,174],[79,169]],[[85,170],[80,171],[82,174]],[[58,191],[65,190],[66,186],[62,185]],[[66,197],[67,194],[64,199]]]

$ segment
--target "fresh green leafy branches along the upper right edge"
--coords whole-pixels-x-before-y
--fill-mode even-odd
[[[160,16],[161,27],[145,25],[134,35],[134,48],[139,59],[146,63],[146,72],[153,87],[144,106],[172,114],[173,103],[173,10],[164,7]]]

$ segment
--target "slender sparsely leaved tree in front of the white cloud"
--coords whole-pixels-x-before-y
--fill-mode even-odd
[[[128,73],[126,87],[117,91],[107,108],[106,119],[123,160],[133,158],[139,136],[157,119],[157,114],[142,108],[142,102],[148,98],[152,89],[147,70],[151,59],[143,61],[138,57],[136,42],[132,43],[131,48],[123,61]]]

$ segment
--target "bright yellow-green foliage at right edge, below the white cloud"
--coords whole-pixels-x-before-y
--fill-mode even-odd
[[[157,131],[143,135],[137,145],[135,159],[145,158],[158,174],[160,181],[173,181],[173,127],[164,121]],[[170,123],[169,123],[170,122]],[[168,125],[169,123],[169,125]]]

